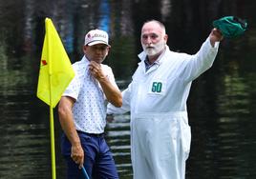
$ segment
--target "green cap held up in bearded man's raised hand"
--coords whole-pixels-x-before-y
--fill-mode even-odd
[[[213,21],[212,24],[214,28],[221,30],[226,38],[242,35],[247,29],[246,20],[234,16],[225,16]]]

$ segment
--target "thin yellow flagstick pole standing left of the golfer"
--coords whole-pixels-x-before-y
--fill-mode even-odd
[[[46,20],[47,21],[47,20]],[[46,24],[46,31],[50,33],[49,31],[49,23]],[[52,152],[52,178],[56,178],[56,173],[55,173],[55,145],[54,145],[54,123],[53,123],[53,102],[52,102],[52,64],[51,64],[51,58],[50,58],[50,35],[47,35],[47,42],[48,42],[48,59],[49,59],[49,89],[50,89],[50,133],[51,133],[51,152]]]

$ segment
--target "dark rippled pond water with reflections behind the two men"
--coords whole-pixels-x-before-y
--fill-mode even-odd
[[[166,26],[171,50],[195,53],[225,15],[247,19],[249,29],[224,39],[210,70],[193,82],[188,98],[192,144],[187,179],[256,177],[256,2],[249,0],[63,0],[0,2],[0,178],[51,178],[49,107],[36,98],[44,19],[50,17],[71,61],[80,60],[86,31],[110,34],[110,55],[120,89],[137,68],[142,23]],[[130,115],[108,123],[106,139],[121,179],[132,178]],[[54,109],[56,178],[65,178]]]

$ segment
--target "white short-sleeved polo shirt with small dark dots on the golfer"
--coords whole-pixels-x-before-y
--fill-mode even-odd
[[[88,133],[102,133],[106,126],[106,97],[100,84],[91,75],[89,64],[84,56],[73,65],[75,78],[62,96],[75,99],[73,108],[75,129]],[[111,68],[103,64],[101,68],[110,82],[117,87]]]

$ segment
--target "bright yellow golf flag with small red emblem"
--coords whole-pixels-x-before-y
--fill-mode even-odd
[[[74,78],[75,71],[51,19],[45,19],[45,28],[37,97],[54,108]]]

